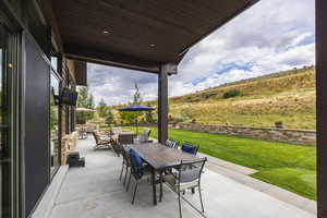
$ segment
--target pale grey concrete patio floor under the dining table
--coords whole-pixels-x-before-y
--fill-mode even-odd
[[[56,198],[51,218],[173,218],[179,217],[177,195],[164,185],[164,199],[153,206],[152,187],[144,181],[131,204],[132,189],[125,192],[119,181],[121,157],[112,150],[94,150],[94,141],[78,141],[77,150],[85,168],[69,169]],[[132,187],[133,187],[132,181]],[[207,217],[221,218],[313,218],[312,214],[263,192],[205,169],[203,198]],[[199,206],[197,192],[185,197]],[[182,202],[183,217],[201,217]]]

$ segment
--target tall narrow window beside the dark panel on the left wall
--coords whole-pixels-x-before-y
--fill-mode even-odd
[[[50,96],[50,154],[51,154],[51,172],[60,165],[60,142],[59,142],[59,80],[51,74],[51,96]]]

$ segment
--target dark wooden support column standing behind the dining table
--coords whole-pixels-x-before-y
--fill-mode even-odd
[[[158,140],[162,144],[168,138],[168,75],[170,74],[177,74],[177,64],[161,64],[158,77]]]

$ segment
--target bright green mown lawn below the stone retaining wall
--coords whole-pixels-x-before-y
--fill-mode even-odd
[[[156,128],[152,137],[157,138]],[[316,199],[315,147],[174,129],[169,137],[198,144],[204,154],[258,170],[256,179]]]

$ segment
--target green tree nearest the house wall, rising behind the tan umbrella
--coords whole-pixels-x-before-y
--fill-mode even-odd
[[[92,94],[88,94],[88,86],[80,87],[77,107],[94,109],[94,98]],[[93,112],[77,112],[76,119],[77,122],[85,122],[86,120],[92,119],[93,116],[94,116]]]

